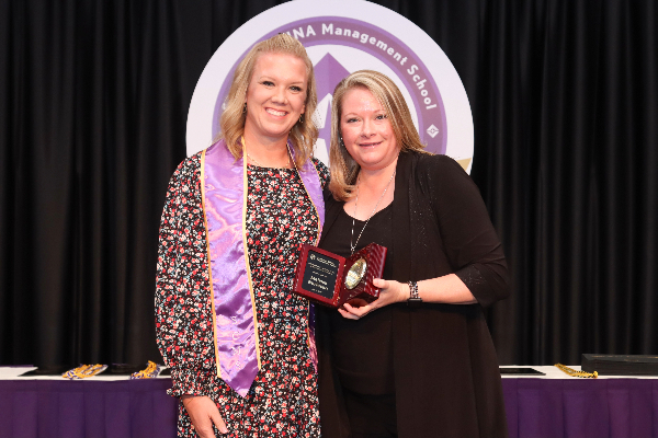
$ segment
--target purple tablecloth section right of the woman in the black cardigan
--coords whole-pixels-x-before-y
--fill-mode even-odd
[[[658,437],[656,379],[503,379],[510,437]]]

